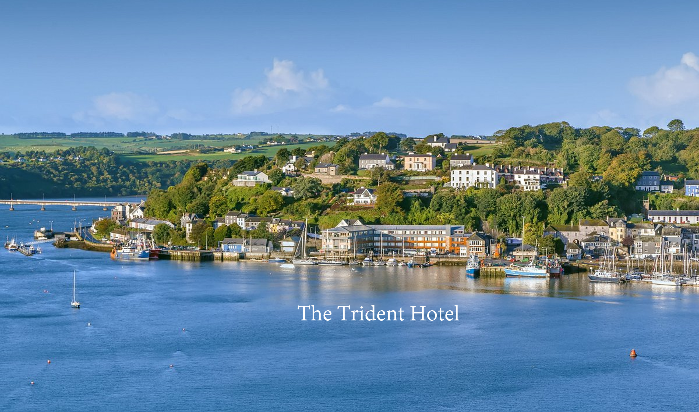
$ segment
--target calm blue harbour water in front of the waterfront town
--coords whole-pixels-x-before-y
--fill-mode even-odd
[[[3,207],[0,237],[101,214]],[[696,410],[699,288],[43,249],[0,250],[1,411]],[[302,322],[304,304],[460,321]]]

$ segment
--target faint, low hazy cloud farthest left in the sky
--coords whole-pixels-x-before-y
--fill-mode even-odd
[[[92,99],[92,108],[77,112],[78,122],[101,124],[109,121],[145,122],[158,114],[157,103],[148,96],[126,92],[103,94]]]

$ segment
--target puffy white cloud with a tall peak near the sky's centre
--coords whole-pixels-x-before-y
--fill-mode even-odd
[[[233,91],[231,110],[235,115],[271,113],[284,108],[310,105],[325,96],[329,81],[323,70],[305,73],[291,60],[274,59],[260,87]]]

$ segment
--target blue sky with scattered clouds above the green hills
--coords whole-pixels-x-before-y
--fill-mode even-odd
[[[699,3],[4,1],[0,131],[699,126]]]

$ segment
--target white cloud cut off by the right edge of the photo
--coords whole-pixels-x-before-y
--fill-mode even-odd
[[[629,89],[655,106],[699,101],[699,57],[685,53],[678,66],[662,67],[654,75],[631,79]]]

